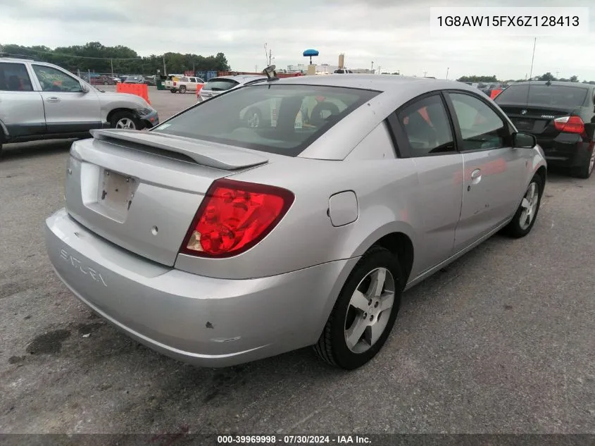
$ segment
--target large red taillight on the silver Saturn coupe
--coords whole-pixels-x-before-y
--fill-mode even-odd
[[[216,180],[206,193],[180,252],[230,257],[263,240],[287,213],[294,194],[280,187]]]

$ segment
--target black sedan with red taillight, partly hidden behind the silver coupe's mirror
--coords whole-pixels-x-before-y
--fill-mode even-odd
[[[551,166],[589,178],[595,165],[595,85],[578,82],[519,82],[496,104],[520,132],[537,137]]]

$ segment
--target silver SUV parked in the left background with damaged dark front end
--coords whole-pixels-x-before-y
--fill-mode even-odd
[[[134,94],[104,92],[51,63],[0,57],[3,143],[89,137],[100,128],[151,128],[158,114]]]

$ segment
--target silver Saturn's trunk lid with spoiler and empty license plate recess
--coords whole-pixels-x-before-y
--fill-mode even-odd
[[[93,130],[73,143],[70,216],[97,235],[173,266],[214,180],[268,163],[245,149],[136,130]]]

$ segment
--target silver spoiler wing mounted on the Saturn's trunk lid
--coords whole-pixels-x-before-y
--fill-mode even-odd
[[[189,157],[201,166],[208,166],[224,171],[260,166],[268,163],[268,158],[242,149],[201,140],[159,135],[154,132],[139,132],[125,129],[90,130],[95,140],[120,140],[154,147],[163,151],[175,152]]]

